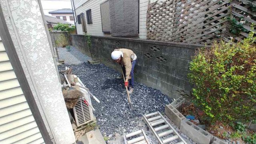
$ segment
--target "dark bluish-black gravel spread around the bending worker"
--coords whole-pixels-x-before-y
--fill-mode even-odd
[[[162,113],[164,106],[172,102],[172,99],[162,94],[160,90],[135,82],[134,93],[131,95],[132,110],[130,110],[124,81],[116,78],[120,76],[119,72],[104,64],[82,63],[60,65],[58,68],[64,70],[65,66],[72,68],[72,73],[76,74],[100,100],[100,103],[97,103],[91,98],[96,110],[93,113],[100,131],[108,136],[132,132],[135,121],[142,118],[143,114],[156,111]]]

